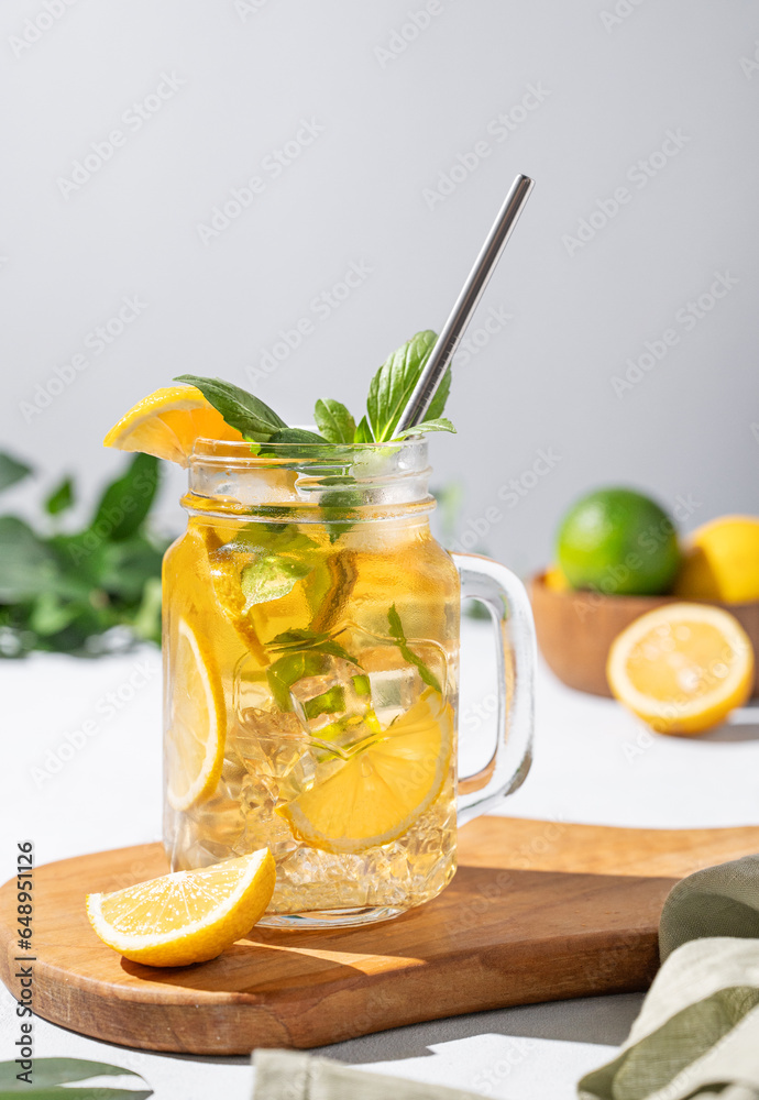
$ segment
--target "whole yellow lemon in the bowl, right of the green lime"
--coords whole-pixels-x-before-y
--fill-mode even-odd
[[[674,582],[682,600],[728,604],[759,600],[759,518],[719,516],[698,527],[685,542]]]

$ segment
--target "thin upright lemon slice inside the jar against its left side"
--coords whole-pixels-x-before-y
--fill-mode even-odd
[[[224,756],[226,706],[211,654],[187,619],[177,620],[172,646],[172,706],[166,733],[168,801],[188,810],[219,781]]]

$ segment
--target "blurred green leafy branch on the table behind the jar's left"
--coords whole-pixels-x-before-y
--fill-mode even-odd
[[[0,491],[32,472],[0,453]],[[109,648],[103,635],[114,627],[128,639],[160,642],[168,540],[147,527],[157,487],[157,460],[135,454],[74,532],[62,529],[76,504],[68,476],[45,498],[34,527],[20,516],[0,516],[0,656],[34,649],[91,656]]]

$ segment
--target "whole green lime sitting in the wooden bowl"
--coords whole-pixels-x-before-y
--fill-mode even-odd
[[[596,490],[578,501],[559,528],[557,553],[573,588],[607,595],[667,592],[680,564],[674,521],[629,488]]]

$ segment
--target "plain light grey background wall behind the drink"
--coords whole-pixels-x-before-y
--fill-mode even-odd
[[[358,410],[385,355],[442,324],[524,172],[537,186],[473,330],[491,309],[508,319],[459,362],[459,435],[432,442],[436,484],[463,487],[458,539],[476,532],[524,572],[550,556],[566,504],[603,483],[689,501],[685,528],[759,512],[756,3],[47,4],[4,0],[0,13],[0,441],[44,481],[73,470],[91,498],[121,462],[101,450],[107,428],[183,372],[252,384],[290,421],[320,396]],[[425,11],[419,30],[409,13]],[[174,94],[146,99],[164,73]],[[524,99],[529,86],[542,101]],[[160,103],[139,129],[135,102]],[[274,178],[265,158],[301,119],[318,135]],[[123,144],[68,186],[114,129]],[[462,158],[472,170],[431,195]],[[261,194],[204,242],[198,227],[255,175]],[[352,263],[371,271],[317,317],[314,299]],[[681,312],[717,272],[729,292]],[[144,308],[98,353],[88,333],[123,296]],[[301,318],[314,331],[256,380]],[[647,341],[666,355],[615,392]],[[51,387],[76,354],[87,365]],[[541,450],[551,460],[535,473]],[[180,486],[173,471],[173,527]]]

